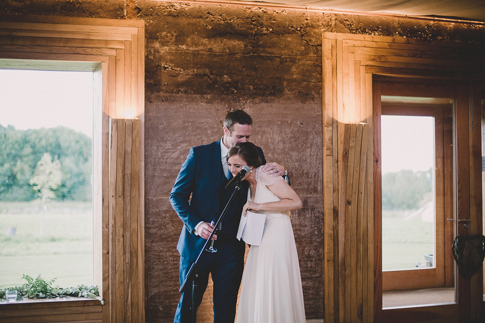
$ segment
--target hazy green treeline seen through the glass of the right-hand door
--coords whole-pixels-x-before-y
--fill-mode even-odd
[[[432,192],[433,173],[401,170],[382,175],[382,209],[418,209]]]

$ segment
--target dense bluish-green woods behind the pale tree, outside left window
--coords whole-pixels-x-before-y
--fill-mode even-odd
[[[91,198],[92,140],[66,127],[16,130],[0,125],[0,200],[32,201],[30,185],[45,153],[61,164],[61,184],[53,189],[58,200]]]

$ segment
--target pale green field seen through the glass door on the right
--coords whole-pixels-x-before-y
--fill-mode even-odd
[[[434,224],[420,219],[382,218],[382,270],[416,268],[434,253]]]

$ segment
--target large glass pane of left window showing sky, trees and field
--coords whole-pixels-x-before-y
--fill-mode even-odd
[[[0,285],[93,284],[93,73],[0,70]]]

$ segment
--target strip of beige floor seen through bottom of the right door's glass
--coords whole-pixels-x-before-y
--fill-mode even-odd
[[[426,288],[382,293],[382,307],[446,304],[455,302],[455,288]]]

